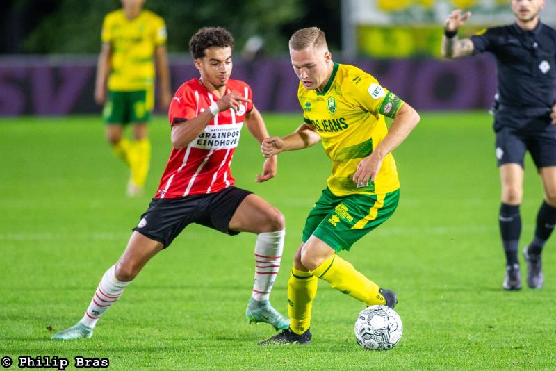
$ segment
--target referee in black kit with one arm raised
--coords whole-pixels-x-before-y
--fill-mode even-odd
[[[487,28],[468,39],[457,29],[471,13],[454,10],[444,24],[446,58],[484,51],[496,57],[498,93],[494,97],[496,158],[502,181],[500,234],[506,254],[505,290],[521,290],[518,243],[523,196],[523,158],[529,151],[544,187],[537,227],[523,249],[530,288],[542,288],[541,253],[556,224],[556,31],[539,20],[544,0],[512,0],[515,23]]]

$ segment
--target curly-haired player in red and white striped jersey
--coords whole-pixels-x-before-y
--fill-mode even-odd
[[[234,38],[228,31],[201,28],[189,47],[200,78],[183,83],[170,104],[174,148],[156,195],[133,229],[124,254],[102,277],[83,318],[54,334],[55,340],[90,338],[100,316],[149,259],[191,223],[230,235],[257,234],[247,319],[276,329],[289,326],[269,302],[284,248],[284,216],[261,197],[234,187],[230,170],[244,123],[259,142],[268,138],[263,117],[252,103],[250,86],[230,79]],[[269,157],[257,181],[268,181],[276,172],[276,156]]]

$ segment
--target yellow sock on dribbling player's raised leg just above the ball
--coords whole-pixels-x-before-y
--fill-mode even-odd
[[[370,305],[386,304],[379,293],[379,286],[355,270],[353,265],[334,254],[311,272],[324,279],[332,288]]]

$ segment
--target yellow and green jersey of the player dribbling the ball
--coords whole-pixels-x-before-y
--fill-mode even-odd
[[[322,92],[306,90],[300,83],[297,98],[306,124],[316,129],[325,153],[333,161],[327,185],[334,195],[377,195],[400,188],[392,154],[382,160],[374,183],[369,181],[368,186],[357,188],[352,180],[359,162],[388,133],[384,116],[394,117],[404,103],[394,93],[363,70],[334,63]]]

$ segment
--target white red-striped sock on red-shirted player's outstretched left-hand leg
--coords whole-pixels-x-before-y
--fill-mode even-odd
[[[95,296],[92,297],[91,304],[81,319],[82,324],[94,329],[102,313],[106,312],[117,299],[122,296],[124,288],[129,282],[118,281],[115,275],[115,266],[108,268],[97,287]]]

